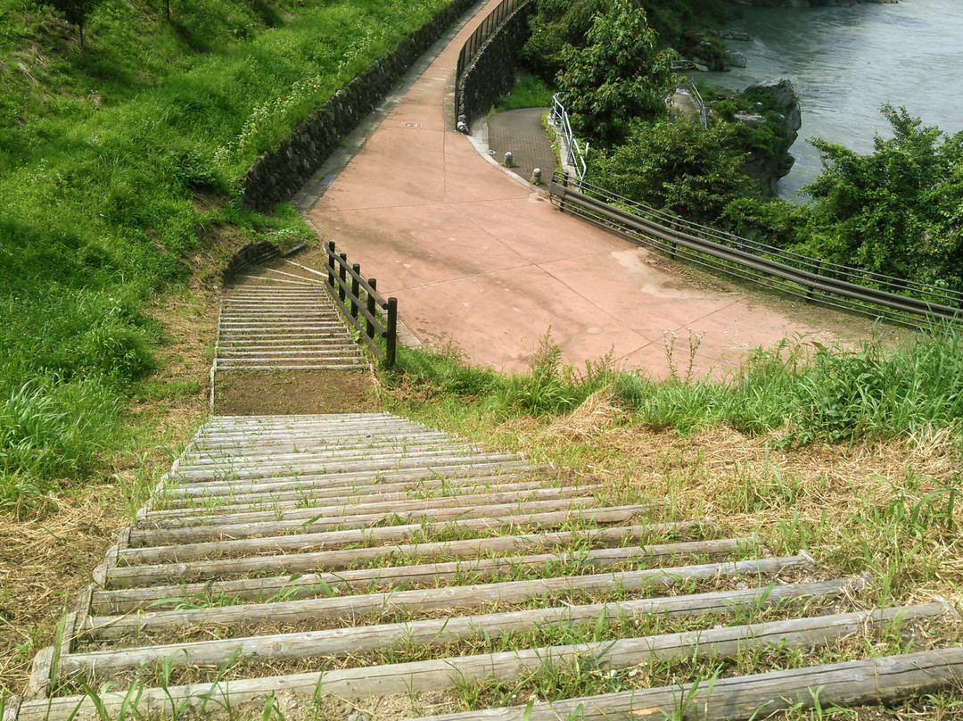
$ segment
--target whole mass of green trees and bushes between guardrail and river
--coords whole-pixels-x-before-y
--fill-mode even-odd
[[[714,52],[707,27],[731,11],[721,0],[537,0],[525,59],[594,141],[591,181],[803,254],[963,290],[963,133],[884,106],[894,137],[871,153],[812,141],[825,167],[804,204],[766,197],[791,162],[795,125],[764,90],[703,89],[706,130],[663,120],[666,48]]]

